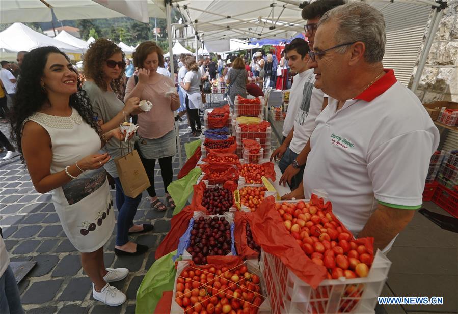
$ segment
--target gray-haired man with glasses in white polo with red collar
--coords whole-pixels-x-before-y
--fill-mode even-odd
[[[382,13],[365,3],[321,17],[309,66],[315,87],[331,98],[316,118],[303,183],[285,198],[325,189],[343,224],[387,251],[421,207],[439,131],[415,94],[383,68],[385,42]]]

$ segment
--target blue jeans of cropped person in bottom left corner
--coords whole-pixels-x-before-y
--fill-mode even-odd
[[[8,254],[8,253],[6,253]],[[0,277],[0,313],[23,314],[21,296],[10,265]]]

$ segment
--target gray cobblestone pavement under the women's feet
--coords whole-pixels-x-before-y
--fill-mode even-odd
[[[0,130],[9,138],[7,124]],[[183,163],[186,153],[184,143],[195,140],[190,137],[186,122],[180,123],[180,139]],[[272,136],[272,147],[278,141]],[[154,231],[133,236],[133,241],[148,245],[145,255],[117,258],[114,254],[115,236],[105,245],[105,266],[126,267],[129,275],[112,283],[127,295],[122,306],[103,305],[92,298],[91,281],[80,263],[79,252],[65,236],[59,222],[51,195],[39,194],[19,157],[4,161],[0,153],[0,227],[11,261],[36,261],[37,265],[19,283],[22,305],[28,314],[117,314],[134,313],[137,289],[148,269],[154,263],[154,253],[160,241],[170,230],[172,210],[157,212],[150,208],[149,197],[143,193],[142,202],[135,216],[136,223],[153,223]],[[180,170],[178,156],[173,159],[174,179]],[[164,195],[159,165],[155,168],[157,195]],[[113,198],[115,197],[112,190]],[[116,205],[115,205],[116,207]],[[117,215],[117,211],[115,214]],[[116,226],[113,235],[116,234]]]

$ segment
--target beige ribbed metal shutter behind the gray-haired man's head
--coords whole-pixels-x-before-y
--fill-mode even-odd
[[[398,81],[408,85],[423,40],[430,6],[376,1],[372,6],[385,17],[387,44],[383,65],[394,69]]]

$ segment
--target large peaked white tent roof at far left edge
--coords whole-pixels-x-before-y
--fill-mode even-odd
[[[0,32],[0,49],[5,52],[30,51],[42,46],[55,46],[66,53],[83,53],[81,48],[38,33],[22,23],[14,23],[5,31]]]

